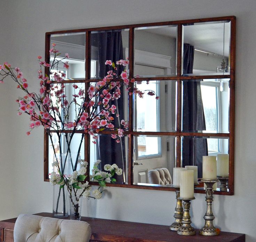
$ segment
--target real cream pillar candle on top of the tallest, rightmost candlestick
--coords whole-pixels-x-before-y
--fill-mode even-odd
[[[203,179],[217,179],[216,156],[203,156]]]

